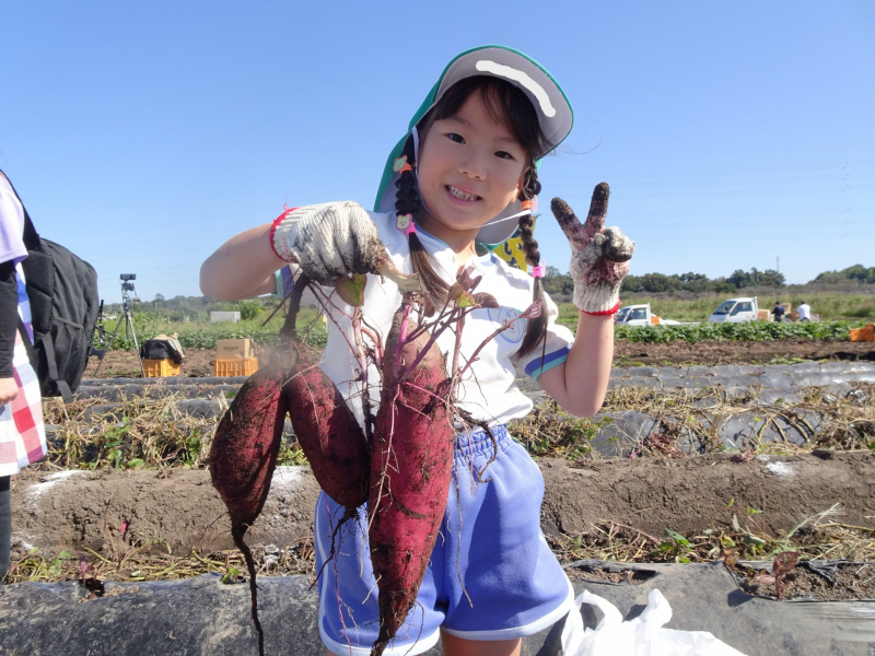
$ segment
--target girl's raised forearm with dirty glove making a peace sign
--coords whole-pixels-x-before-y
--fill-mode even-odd
[[[614,313],[634,251],[634,244],[618,227],[605,227],[608,195],[607,184],[596,186],[583,224],[563,200],[555,198],[550,203],[571,243],[573,297],[580,316],[565,362],[544,372],[538,383],[564,410],[580,417],[598,412],[607,394],[614,360]]]

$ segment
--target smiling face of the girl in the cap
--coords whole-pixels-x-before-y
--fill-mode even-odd
[[[417,216],[428,233],[456,246],[472,246],[477,231],[516,200],[528,154],[503,121],[471,93],[459,110],[435,120],[420,145]],[[467,244],[465,244],[467,243]]]

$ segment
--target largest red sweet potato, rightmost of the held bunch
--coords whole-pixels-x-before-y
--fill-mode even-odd
[[[429,335],[407,341],[416,325],[402,309],[386,342],[371,461],[369,538],[380,589],[380,634],[372,656],[383,654],[416,604],[446,508],[453,465],[444,356],[432,344],[408,371]]]

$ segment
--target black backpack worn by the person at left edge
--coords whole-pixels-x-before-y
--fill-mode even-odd
[[[26,209],[24,245],[27,258],[21,266],[34,330],[33,348],[27,354],[43,396],[70,401],[82,380],[94,340],[100,308],[97,272],[60,244],[43,239]],[[30,340],[24,343],[30,344]]]

